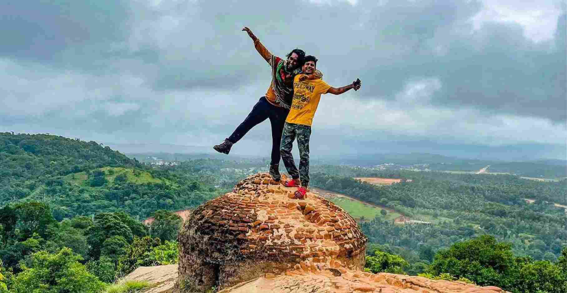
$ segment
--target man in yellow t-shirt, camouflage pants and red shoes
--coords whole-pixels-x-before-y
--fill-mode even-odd
[[[307,79],[306,74],[315,72],[317,58],[315,56],[305,57],[305,63],[302,67],[302,73],[295,76],[293,80],[293,100],[291,101],[291,109],[284,125],[284,133],[282,134],[280,152],[284,161],[287,173],[291,176],[291,180],[285,182],[285,186],[301,186],[295,197],[303,198],[307,192],[309,184],[309,138],[311,136],[311,124],[313,116],[317,111],[321,94],[340,95],[351,88],[358,90],[361,87],[359,79],[348,86],[334,88],[329,86],[322,79]],[[299,147],[299,171],[293,162],[291,148],[293,141],[297,137],[297,146]],[[301,182],[300,179],[301,178]]]

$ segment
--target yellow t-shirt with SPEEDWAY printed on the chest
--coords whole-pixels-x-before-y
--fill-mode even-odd
[[[302,74],[295,75],[293,79],[293,101],[287,114],[287,123],[311,126],[313,116],[317,111],[321,94],[327,94],[329,86],[323,79],[299,81]]]

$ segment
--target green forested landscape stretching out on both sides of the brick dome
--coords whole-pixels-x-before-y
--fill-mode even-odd
[[[0,292],[108,292],[138,266],[175,264],[183,220],[172,211],[267,171],[264,161],[150,165],[97,142],[0,133]],[[361,219],[368,271],[567,290],[567,216],[554,205],[567,205],[566,180],[314,164],[311,182],[431,223]]]

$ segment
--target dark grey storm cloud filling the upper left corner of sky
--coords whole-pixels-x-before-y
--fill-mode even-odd
[[[125,1],[3,1],[0,54],[58,66],[104,58],[128,36],[129,8]]]

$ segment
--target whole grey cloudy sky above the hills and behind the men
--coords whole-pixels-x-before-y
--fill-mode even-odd
[[[321,97],[314,155],[566,157],[563,1],[2,1],[0,131],[210,150],[270,82],[243,26],[362,80]],[[266,121],[232,153],[270,146]]]

